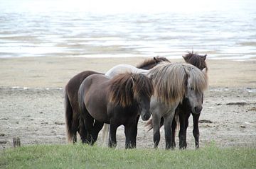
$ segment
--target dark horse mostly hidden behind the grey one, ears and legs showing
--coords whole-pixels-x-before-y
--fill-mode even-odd
[[[185,54],[184,56],[182,56],[183,59],[185,60],[186,63],[188,64],[192,64],[193,66],[196,66],[198,69],[206,69],[206,73],[208,71],[208,67],[206,64],[206,57],[207,54],[205,55],[199,55],[192,52],[188,52],[188,54]],[[203,97],[203,95],[202,95]],[[203,102],[203,98],[202,98],[202,102]],[[195,113],[191,113],[191,105],[188,103],[188,99],[183,98],[182,103],[180,103],[178,105],[178,107],[176,108],[175,111],[175,118],[172,122],[171,125],[171,148],[174,148],[176,146],[175,143],[175,131],[176,131],[176,126],[177,126],[177,122],[176,120],[179,121],[179,133],[178,133],[178,138],[179,138],[179,148],[186,148],[187,143],[186,143],[186,130],[188,128],[188,118],[190,117],[190,115],[192,114],[193,116],[193,136],[195,138],[195,144],[196,144],[196,148],[199,148],[199,128],[198,128],[198,120],[199,117],[201,115],[201,112],[198,114]],[[161,118],[161,124],[160,126],[162,126],[164,124],[164,118]],[[149,122],[147,122],[146,126],[149,126],[150,129],[152,129],[152,120],[149,120]],[[150,130],[149,129],[149,130]]]

